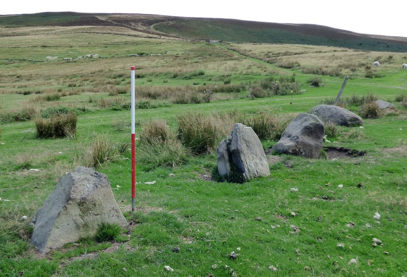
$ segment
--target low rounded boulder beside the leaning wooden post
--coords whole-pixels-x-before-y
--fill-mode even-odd
[[[326,123],[335,123],[340,126],[362,126],[363,120],[350,110],[335,105],[317,105],[308,110],[308,114],[316,115]]]

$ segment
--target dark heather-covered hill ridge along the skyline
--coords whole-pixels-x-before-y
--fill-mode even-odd
[[[138,14],[39,13],[0,16],[5,28],[28,26],[122,26],[146,34],[238,43],[337,46],[369,51],[407,52],[407,39],[356,34],[312,24],[280,24],[218,18]]]

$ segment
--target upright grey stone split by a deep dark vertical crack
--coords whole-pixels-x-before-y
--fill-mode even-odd
[[[223,177],[238,174],[246,181],[270,175],[266,154],[258,136],[251,127],[241,123],[235,124],[229,138],[219,144],[217,157],[218,172]]]

